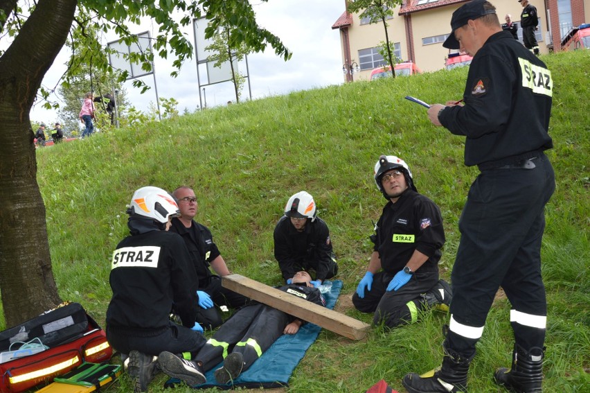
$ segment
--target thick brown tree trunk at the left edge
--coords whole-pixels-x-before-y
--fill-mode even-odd
[[[39,0],[0,57],[0,290],[7,326],[60,303],[29,112],[66,41],[76,0]]]

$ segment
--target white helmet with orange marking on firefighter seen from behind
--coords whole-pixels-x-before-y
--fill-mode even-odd
[[[131,216],[152,218],[161,224],[168,222],[169,217],[180,216],[175,199],[158,187],[142,187],[133,194],[127,213]]]

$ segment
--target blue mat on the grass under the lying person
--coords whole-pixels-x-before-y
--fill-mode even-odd
[[[323,294],[325,297],[326,308],[334,308],[341,289],[341,280],[332,281],[332,289],[330,292]],[[303,356],[305,356],[305,351],[307,351],[307,348],[309,348],[316,340],[320,331],[321,327],[316,324],[304,324],[294,335],[281,335],[280,338],[278,338],[278,340],[276,340],[249,369],[240,374],[238,378],[235,378],[233,386],[248,388],[288,386],[289,384],[287,382],[289,381],[293,370],[297,367]],[[205,374],[207,378],[206,383],[203,385],[197,385],[194,388],[205,389],[208,387],[218,387],[222,390],[231,389],[231,383],[228,383],[227,385],[218,385],[215,381],[213,372],[219,367],[222,367],[222,363],[213,367],[213,369]],[[173,385],[174,383],[178,383],[178,380],[175,381],[174,378],[172,378],[166,382],[166,385]]]

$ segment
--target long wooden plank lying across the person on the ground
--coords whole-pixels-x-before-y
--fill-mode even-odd
[[[352,340],[361,340],[370,328],[370,325],[348,315],[307,302],[240,274],[222,277],[222,286]]]

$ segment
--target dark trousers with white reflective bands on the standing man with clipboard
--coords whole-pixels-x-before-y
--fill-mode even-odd
[[[526,350],[543,347],[545,339],[544,327],[527,320],[543,320],[547,314],[541,242],[544,207],[555,191],[547,157],[541,153],[530,162],[534,168],[482,171],[472,184],[459,220],[461,243],[451,275],[450,307],[458,324],[482,327],[502,286],[521,315],[512,329],[516,343]],[[455,330],[451,326],[447,335],[449,347],[471,356],[479,337]]]

